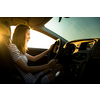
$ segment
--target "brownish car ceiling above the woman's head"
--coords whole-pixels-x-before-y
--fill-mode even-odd
[[[31,28],[35,28],[36,26],[43,26],[46,22],[48,22],[52,17],[3,17],[0,18],[2,21],[7,21],[9,24],[18,25],[25,24],[29,25]]]

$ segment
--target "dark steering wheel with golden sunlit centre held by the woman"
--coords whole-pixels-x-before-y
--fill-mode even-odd
[[[61,54],[61,51],[62,51],[62,48],[63,48],[63,42],[61,39],[57,39],[53,45],[53,48],[50,52],[50,55],[49,55],[49,61],[51,59],[59,59],[60,57],[60,54]]]

